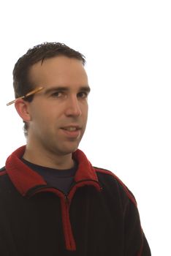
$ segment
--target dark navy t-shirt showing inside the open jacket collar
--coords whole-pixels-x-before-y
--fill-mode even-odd
[[[64,192],[64,194],[67,194],[69,192],[69,189],[72,186],[72,181],[75,177],[75,173],[77,171],[77,162],[75,162],[75,166],[71,169],[58,170],[35,165],[23,158],[21,160],[25,165],[30,167],[31,170],[39,173],[39,175],[42,176],[42,178],[47,182],[47,185],[61,190],[62,192]]]

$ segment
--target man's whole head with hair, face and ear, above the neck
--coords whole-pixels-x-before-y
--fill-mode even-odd
[[[14,69],[15,97],[44,87],[32,97],[17,99],[15,108],[28,129],[28,143],[58,154],[75,151],[86,129],[88,78],[82,54],[64,44],[38,45]]]

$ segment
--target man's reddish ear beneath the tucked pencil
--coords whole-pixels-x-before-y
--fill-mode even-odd
[[[23,99],[15,100],[15,109],[18,112],[18,115],[23,119],[23,121],[30,121],[31,116],[29,114],[29,102],[26,102]]]

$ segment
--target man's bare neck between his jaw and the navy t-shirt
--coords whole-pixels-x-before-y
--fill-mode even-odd
[[[65,155],[53,154],[39,149],[30,148],[26,146],[26,151],[23,154],[23,159],[32,162],[35,165],[50,167],[53,169],[66,170],[74,166],[72,153]]]

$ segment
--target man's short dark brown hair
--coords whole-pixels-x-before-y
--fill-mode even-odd
[[[18,59],[13,69],[13,87],[15,91],[15,98],[26,95],[29,91],[34,89],[34,85],[31,84],[28,78],[28,71],[30,67],[38,61],[44,61],[44,59],[50,59],[55,56],[66,56],[73,59],[82,61],[83,65],[86,64],[86,59],[83,54],[77,50],[69,48],[61,42],[43,42],[40,45],[36,45],[30,48],[26,54]],[[31,102],[34,96],[28,97],[25,100]],[[24,133],[27,135],[28,124],[24,122]]]

